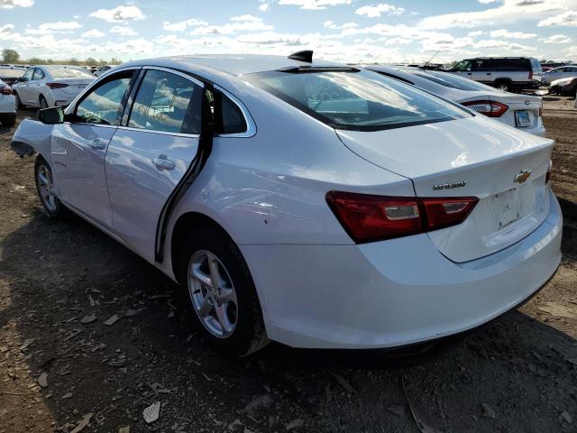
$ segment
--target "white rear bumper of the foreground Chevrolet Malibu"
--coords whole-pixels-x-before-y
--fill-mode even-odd
[[[561,209],[467,263],[426,234],[361,245],[241,245],[268,336],[294,347],[385,348],[458,334],[533,296],[561,260]]]

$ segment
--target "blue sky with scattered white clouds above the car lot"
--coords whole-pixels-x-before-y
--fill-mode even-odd
[[[577,0],[0,0],[0,49],[136,60],[315,51],[346,62],[577,61]]]

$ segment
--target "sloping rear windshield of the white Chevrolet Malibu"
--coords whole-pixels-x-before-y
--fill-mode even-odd
[[[417,88],[365,70],[275,70],[244,78],[336,129],[378,131],[470,115]]]

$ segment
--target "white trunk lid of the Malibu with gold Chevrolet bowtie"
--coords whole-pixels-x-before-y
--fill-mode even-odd
[[[545,175],[551,140],[482,115],[337,134],[363,159],[412,180],[417,197],[479,198],[462,224],[428,232],[453,262],[468,262],[515,244],[548,214]]]

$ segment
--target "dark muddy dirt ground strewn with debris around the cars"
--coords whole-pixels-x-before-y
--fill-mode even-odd
[[[519,311],[409,357],[282,345],[215,354],[168,278],[78,217],[45,217],[33,160],[18,159],[14,128],[0,127],[0,432],[577,431],[571,107],[545,97],[559,272]],[[160,418],[147,424],[155,402]]]

